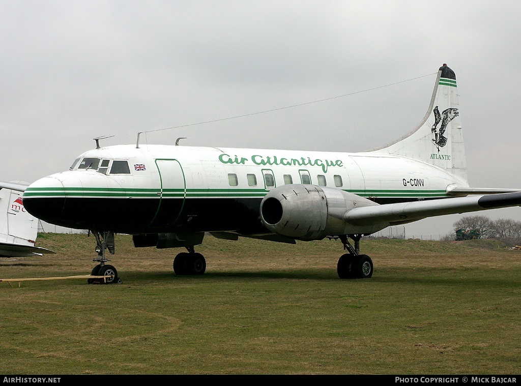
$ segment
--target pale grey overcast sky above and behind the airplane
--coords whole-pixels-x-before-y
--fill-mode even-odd
[[[416,126],[446,63],[470,185],[521,188],[520,14],[498,0],[0,0],[0,180],[66,170],[96,136],[135,143],[140,131],[345,94],[141,143],[368,150]],[[521,208],[480,214],[521,220]],[[416,222],[406,236],[438,237],[458,218]]]

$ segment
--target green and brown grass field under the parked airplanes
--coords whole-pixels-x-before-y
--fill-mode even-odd
[[[56,255],[0,259],[0,279],[90,273],[93,237],[39,235]],[[339,241],[208,236],[181,249],[116,235],[122,284],[0,283],[9,374],[519,374],[521,251],[489,241],[362,241],[375,271],[341,280]]]

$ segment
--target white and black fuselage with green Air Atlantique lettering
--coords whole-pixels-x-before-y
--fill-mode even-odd
[[[395,155],[118,145],[85,152],[71,170],[36,181],[23,202],[34,216],[68,228],[255,234],[267,232],[259,220],[263,197],[292,183],[378,204],[443,198],[449,186],[465,185],[442,168]]]

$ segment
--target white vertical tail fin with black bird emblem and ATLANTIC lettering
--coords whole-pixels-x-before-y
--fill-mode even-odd
[[[429,110],[420,124],[399,140],[371,150],[400,155],[439,167],[467,183],[467,165],[459,113],[456,75],[440,67]]]

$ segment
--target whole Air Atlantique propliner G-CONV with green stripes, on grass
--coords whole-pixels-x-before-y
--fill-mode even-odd
[[[431,216],[521,205],[521,191],[473,189],[467,183],[454,72],[438,72],[425,118],[410,133],[363,153],[136,145],[83,153],[70,170],[32,183],[27,210],[44,221],[89,229],[98,253],[93,275],[107,265],[114,233],[136,247],[185,247],[177,275],[202,275],[194,246],[205,233],[278,242],[340,239],[340,278],[370,278],[362,235]],[[177,143],[176,143],[177,144]],[[479,195],[476,195],[479,194]],[[354,244],[349,241],[351,239]]]

